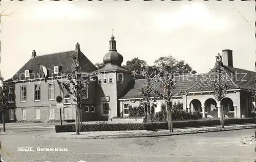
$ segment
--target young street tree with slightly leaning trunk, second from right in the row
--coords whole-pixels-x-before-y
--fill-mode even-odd
[[[166,64],[160,66],[160,71],[162,72],[162,74],[157,75],[156,82],[159,83],[161,87],[163,87],[163,91],[155,90],[155,94],[158,99],[164,99],[167,104],[170,104],[173,97],[173,89],[175,88],[175,71],[170,71],[170,67]],[[168,107],[165,106],[165,108],[167,112],[169,131],[173,132],[172,107],[170,105]]]

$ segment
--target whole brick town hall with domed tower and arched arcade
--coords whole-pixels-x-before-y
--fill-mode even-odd
[[[36,56],[36,52],[33,51],[32,58],[6,81],[9,91],[15,94],[8,105],[7,122],[59,120],[56,96],[63,98],[63,107],[61,107],[63,118],[75,120],[76,102],[59,84],[67,81],[65,74],[71,71],[73,54],[78,56],[82,72],[97,76],[96,81],[90,81],[87,98],[82,101],[81,120],[100,121],[114,117],[129,117],[128,106],[140,104],[142,98],[138,89],[145,80],[134,80],[132,73],[122,67],[123,57],[116,50],[113,36],[109,43],[110,50],[103,57],[105,66],[99,70],[80,51],[78,43],[74,51],[41,56]],[[233,67],[231,50],[223,50],[223,61],[220,55],[216,57],[220,58],[216,61],[221,62],[228,76],[227,94],[222,102],[225,115],[235,118],[249,117],[254,110],[251,90],[256,90],[254,82],[256,73]],[[47,82],[40,77],[41,72],[37,64],[50,69]],[[177,83],[173,92],[176,94],[173,103],[178,101],[183,103],[183,109],[187,111],[200,111],[203,118],[220,117],[218,111],[220,103],[214,97],[210,75],[211,72],[175,76]],[[156,85],[156,89],[163,90],[159,85]],[[160,110],[162,104],[165,104],[164,100],[157,101],[156,111]]]

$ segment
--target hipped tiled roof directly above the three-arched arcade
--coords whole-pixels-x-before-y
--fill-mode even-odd
[[[231,66],[223,66],[227,74],[227,79],[225,84],[227,89],[250,89],[256,90],[255,77],[256,73],[243,70],[241,68],[235,68]],[[214,72],[210,71],[199,80],[194,86],[186,89],[187,92],[195,91],[210,91],[214,90],[214,87],[211,85],[212,76]]]

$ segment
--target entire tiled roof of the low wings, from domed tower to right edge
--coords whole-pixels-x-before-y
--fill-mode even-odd
[[[224,66],[224,70],[227,74],[226,85],[227,89],[250,89],[256,90],[255,78],[256,73],[243,70],[241,68],[235,68],[231,66]],[[175,76],[176,85],[173,90],[173,95],[179,95],[180,92],[200,92],[211,91],[214,87],[211,85],[213,72],[201,74],[188,74],[182,76]],[[139,89],[144,85],[145,79],[137,79],[126,89],[126,94],[123,94],[120,99],[132,99],[141,98],[139,95]],[[163,91],[158,83],[155,84],[155,89],[160,92]],[[154,97],[155,94],[152,94]]]

